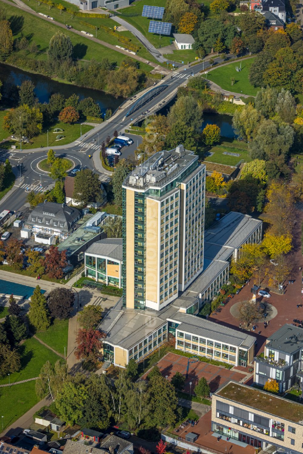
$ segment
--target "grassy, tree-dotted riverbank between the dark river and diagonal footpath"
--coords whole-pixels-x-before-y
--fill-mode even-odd
[[[0,48],[0,60],[30,72],[61,79],[82,87],[104,90],[114,96],[128,97],[151,84],[150,66],[113,49],[64,30],[13,5],[1,5],[1,16],[8,30],[10,46]],[[50,42],[57,36],[54,58]],[[66,37],[66,38],[64,38]],[[64,45],[63,45],[64,44]],[[65,52],[63,49],[68,49]],[[139,69],[138,69],[139,68]]]

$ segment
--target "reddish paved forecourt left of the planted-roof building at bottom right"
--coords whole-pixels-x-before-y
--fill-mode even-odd
[[[185,439],[187,432],[194,432],[194,434],[199,434],[198,439],[195,441],[195,446],[203,446],[204,448],[209,448],[217,453],[228,453],[228,454],[254,454],[255,448],[253,446],[238,446],[234,443],[234,440],[226,441],[226,437],[217,441],[217,437],[213,435],[213,432],[210,430],[211,427],[211,411],[206,413],[199,419],[199,422],[194,427],[188,426],[183,432],[179,432],[177,435],[180,438]],[[196,450],[196,449],[195,449]]]

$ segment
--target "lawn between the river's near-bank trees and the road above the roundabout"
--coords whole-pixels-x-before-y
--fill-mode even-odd
[[[61,128],[63,129],[63,132],[60,133],[54,133],[55,128]],[[89,132],[90,129],[92,129],[93,126],[89,125],[81,125],[81,133],[82,135]],[[56,140],[56,137],[58,135],[64,136],[63,139]],[[49,132],[48,132],[48,137],[49,141],[48,144],[49,146],[55,146],[55,145],[65,145],[66,143],[73,142],[77,138],[80,137],[80,124],[67,124],[67,123],[62,123],[61,121],[56,121],[53,123],[51,126],[49,126]],[[7,140],[4,143],[1,143],[2,148],[11,148],[12,145],[15,145],[16,149],[20,149],[20,142],[17,142],[16,140]],[[33,137],[30,141],[30,143],[22,143],[22,149],[26,148],[40,148],[41,146],[46,147],[47,146],[47,129],[43,128],[42,133],[39,134],[36,137]]]

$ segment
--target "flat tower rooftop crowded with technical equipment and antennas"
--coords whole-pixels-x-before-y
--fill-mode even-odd
[[[198,156],[185,150],[181,144],[169,151],[159,151],[134,168],[125,178],[123,187],[138,190],[163,188],[195,161],[198,166]]]

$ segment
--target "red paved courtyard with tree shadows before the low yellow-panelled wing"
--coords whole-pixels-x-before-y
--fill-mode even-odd
[[[168,380],[171,380],[176,372],[180,372],[184,376],[186,375],[188,358],[186,356],[177,355],[176,353],[168,353],[165,355],[157,364],[161,374],[165,377],[168,376]],[[144,375],[143,378],[146,377]],[[241,381],[246,379],[246,374],[241,374],[236,370],[228,370],[224,367],[218,367],[203,361],[197,361],[196,363],[189,364],[189,376],[185,382],[184,391],[189,393],[190,385],[192,382],[191,391],[194,391],[195,385],[197,385],[199,379],[205,377],[209,383],[211,392],[216,391],[219,387],[228,383],[229,380]]]

